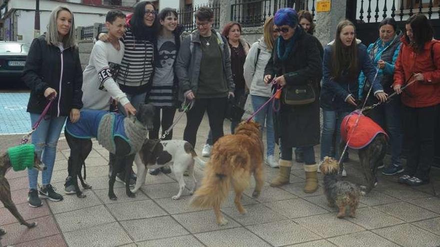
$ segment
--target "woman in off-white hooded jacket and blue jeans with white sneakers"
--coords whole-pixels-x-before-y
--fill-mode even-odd
[[[263,26],[263,36],[250,46],[249,53],[244,62],[244,81],[250,90],[249,93],[254,111],[260,108],[272,95],[271,85],[265,84],[263,77],[264,68],[272,53],[274,40],[278,35],[279,33],[273,28],[273,17],[267,18]],[[264,108],[255,115],[255,121],[260,124],[261,132],[264,131],[264,125],[266,126],[267,150],[265,163],[272,168],[276,168],[278,167],[278,162],[273,155],[275,151],[275,141],[271,107],[271,104],[264,106]]]

